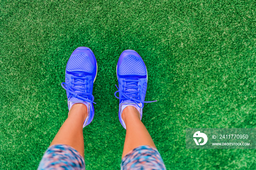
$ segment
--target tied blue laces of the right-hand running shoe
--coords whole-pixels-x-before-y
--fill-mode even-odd
[[[143,108],[142,106],[140,106],[138,103],[151,103],[151,102],[155,102],[155,101],[142,101],[141,98],[140,98],[140,90],[139,88],[141,86],[138,85],[138,82],[141,82],[140,80],[123,80],[125,82],[125,85],[124,85],[124,88],[125,90],[120,90],[118,89],[117,85],[116,85],[116,88],[118,89],[114,94],[116,96],[116,93],[120,93],[121,96],[123,97],[117,97],[118,99],[120,100],[124,100],[124,99],[127,99],[127,100],[131,100],[133,101],[139,108]],[[132,84],[137,84],[137,86],[132,86]],[[127,91],[128,89],[135,89],[135,90],[131,90],[131,91]]]

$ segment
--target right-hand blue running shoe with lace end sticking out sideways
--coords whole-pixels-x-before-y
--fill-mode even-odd
[[[147,68],[143,59],[134,50],[125,50],[120,55],[116,67],[118,79],[119,93],[119,121],[126,129],[126,125],[121,117],[123,109],[128,105],[132,105],[140,112],[140,120],[142,119],[142,109],[144,103],[154,101],[144,101],[147,91]]]

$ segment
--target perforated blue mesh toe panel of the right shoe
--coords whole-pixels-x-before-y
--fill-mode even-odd
[[[119,74],[146,74],[146,66],[141,58],[128,55],[119,68]]]

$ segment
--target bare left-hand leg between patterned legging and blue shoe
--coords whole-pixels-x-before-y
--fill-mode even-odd
[[[75,148],[84,157],[83,123],[88,115],[86,105],[74,104],[60,130],[52,140],[54,144],[67,144]]]

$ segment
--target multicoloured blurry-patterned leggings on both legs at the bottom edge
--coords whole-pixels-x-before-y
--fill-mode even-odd
[[[72,169],[84,170],[82,155],[68,145],[53,145],[49,147],[38,170]],[[130,151],[121,162],[121,170],[166,170],[163,159],[156,148],[139,146]]]

